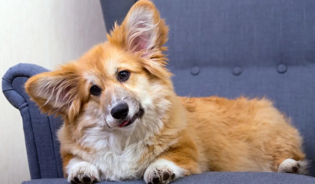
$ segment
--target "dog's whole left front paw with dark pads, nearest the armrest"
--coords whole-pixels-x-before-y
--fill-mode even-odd
[[[68,170],[68,182],[75,184],[94,183],[100,181],[98,169],[88,162],[78,162]]]

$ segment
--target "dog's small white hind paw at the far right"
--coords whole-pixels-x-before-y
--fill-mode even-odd
[[[291,158],[285,159],[278,168],[278,173],[294,173],[292,167],[297,168],[297,174],[307,174],[308,162],[305,160],[296,161]]]

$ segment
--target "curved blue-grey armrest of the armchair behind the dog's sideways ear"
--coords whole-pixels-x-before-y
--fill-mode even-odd
[[[20,110],[31,179],[62,178],[62,163],[56,130],[60,118],[41,114],[38,107],[25,93],[26,80],[38,73],[48,71],[34,64],[15,65],[2,78],[2,91],[8,101]]]

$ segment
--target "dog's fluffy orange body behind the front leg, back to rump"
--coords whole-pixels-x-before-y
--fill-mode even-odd
[[[299,132],[269,100],[209,97],[182,102],[210,171],[277,172],[284,160],[305,158]],[[295,173],[305,173],[304,162],[299,165]]]

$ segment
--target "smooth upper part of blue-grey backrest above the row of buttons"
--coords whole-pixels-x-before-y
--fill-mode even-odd
[[[314,0],[154,0],[178,69],[314,64]]]

